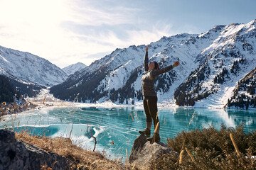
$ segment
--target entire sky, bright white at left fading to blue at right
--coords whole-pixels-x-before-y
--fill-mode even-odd
[[[255,0],[0,0],[0,45],[60,68],[116,48],[256,19]]]

